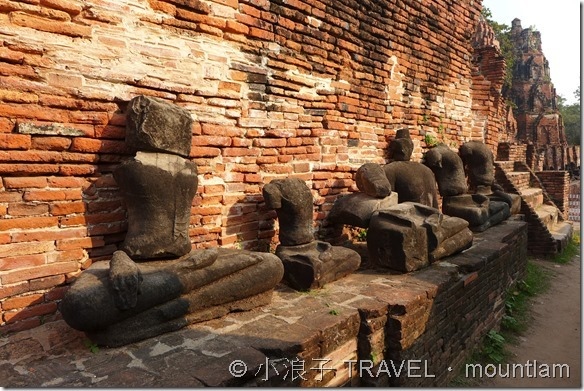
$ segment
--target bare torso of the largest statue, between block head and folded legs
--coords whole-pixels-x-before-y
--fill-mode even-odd
[[[133,259],[180,257],[191,251],[188,230],[197,190],[193,162],[138,152],[114,171],[114,178],[128,208],[123,251]]]

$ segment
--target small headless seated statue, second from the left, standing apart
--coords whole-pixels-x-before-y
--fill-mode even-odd
[[[356,251],[314,240],[312,193],[303,180],[274,179],[264,186],[263,195],[278,215],[276,255],[284,264],[284,281],[290,287],[321,288],[359,268],[361,257]]]

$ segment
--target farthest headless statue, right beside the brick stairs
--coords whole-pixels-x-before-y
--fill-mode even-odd
[[[468,176],[470,191],[483,194],[491,201],[507,203],[512,215],[521,211],[521,196],[505,193],[503,188],[495,183],[495,158],[485,143],[468,141],[460,146],[458,154]]]

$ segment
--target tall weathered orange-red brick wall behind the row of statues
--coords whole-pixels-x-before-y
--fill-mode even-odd
[[[409,127],[485,139],[472,65],[481,2],[5,0],[0,2],[0,324],[48,320],[65,284],[123,240],[111,172],[125,106],[157,96],[195,119],[195,247],[267,250],[261,187],[307,181],[315,230],[355,170]],[[475,73],[473,73],[475,72]],[[479,97],[480,95],[480,97]],[[488,137],[487,137],[488,138]],[[44,318],[41,318],[44,316]]]

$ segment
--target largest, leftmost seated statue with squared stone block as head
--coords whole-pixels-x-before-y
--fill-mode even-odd
[[[163,100],[129,102],[126,141],[137,153],[114,172],[128,209],[126,238],[109,262],[81,273],[60,304],[65,321],[97,344],[125,345],[268,304],[282,279],[273,254],[192,250],[191,125],[188,111]]]

